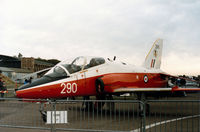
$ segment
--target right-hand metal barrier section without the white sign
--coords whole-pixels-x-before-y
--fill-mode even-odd
[[[200,132],[200,100],[149,100],[146,132]]]

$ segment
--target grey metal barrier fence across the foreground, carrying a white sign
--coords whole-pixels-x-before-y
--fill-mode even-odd
[[[42,102],[42,103],[41,103]],[[198,100],[0,99],[0,127],[47,131],[200,131]],[[139,106],[150,111],[139,110]],[[41,112],[43,114],[41,114]]]

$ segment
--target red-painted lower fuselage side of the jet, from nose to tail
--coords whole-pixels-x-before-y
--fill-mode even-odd
[[[145,75],[148,77],[148,82],[144,81]],[[80,79],[77,81],[65,82],[66,85],[67,83],[76,83],[76,93],[61,94],[63,87],[61,87],[62,83],[59,83],[16,91],[16,94],[19,98],[40,99],[96,95],[95,81],[97,78],[103,80],[105,86],[104,90],[108,93],[113,93],[114,90],[118,88],[162,88],[167,85],[167,80],[163,80],[161,74],[158,73],[112,73],[87,79]]]

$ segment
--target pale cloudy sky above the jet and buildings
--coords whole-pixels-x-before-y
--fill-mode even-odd
[[[199,0],[0,0],[0,54],[139,66],[162,38],[163,71],[200,75],[199,14]]]

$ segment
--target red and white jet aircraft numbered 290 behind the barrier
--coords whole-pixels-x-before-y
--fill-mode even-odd
[[[54,66],[42,78],[16,90],[19,98],[58,99],[102,94],[200,90],[169,87],[169,74],[161,69],[163,40],[154,42],[143,67],[102,57],[77,57]]]

